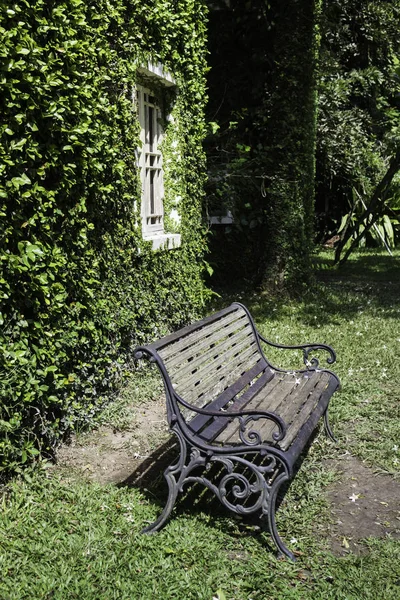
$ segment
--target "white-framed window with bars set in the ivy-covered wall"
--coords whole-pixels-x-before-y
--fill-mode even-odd
[[[138,166],[142,184],[143,238],[152,242],[153,249],[180,246],[179,234],[164,230],[164,172],[161,145],[164,138],[166,115],[162,114],[160,90],[173,85],[172,78],[160,65],[140,69],[143,85],[136,85],[137,112],[140,123],[141,147],[138,148]],[[153,84],[153,85],[152,85]],[[154,89],[153,89],[154,86]],[[158,91],[155,92],[154,90]]]

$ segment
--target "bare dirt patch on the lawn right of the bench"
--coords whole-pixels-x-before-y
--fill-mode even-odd
[[[400,539],[400,483],[350,454],[327,461],[327,466],[340,473],[327,490],[334,521],[328,529],[332,552],[362,554],[361,540],[368,537]]]

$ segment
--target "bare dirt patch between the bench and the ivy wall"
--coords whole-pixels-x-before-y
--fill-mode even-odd
[[[138,407],[126,431],[101,427],[74,436],[70,444],[59,448],[55,468],[77,469],[100,483],[120,483],[140,471],[154,450],[169,439],[165,398],[160,396]]]

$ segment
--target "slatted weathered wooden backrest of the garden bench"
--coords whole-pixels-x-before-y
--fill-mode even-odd
[[[243,390],[266,366],[250,319],[236,304],[151,346],[162,358],[175,391],[200,408],[239,379]]]

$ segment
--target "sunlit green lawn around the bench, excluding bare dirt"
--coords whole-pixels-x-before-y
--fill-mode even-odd
[[[80,600],[359,600],[400,597],[400,543],[365,541],[362,556],[334,556],[325,530],[331,519],[324,491],[334,481],[324,458],[349,449],[399,477],[400,252],[363,252],[345,269],[316,258],[318,284],[300,301],[279,302],[245,292],[272,340],[322,341],[337,351],[343,389],[332,402],[335,448],[313,443],[278,513],[278,526],[298,553],[275,557],[268,535],[254,536],[215,509],[178,510],[155,536],[140,535],[160,510],[145,490],[84,481],[76,473],[37,473],[3,491],[0,517],[0,598]],[[322,358],[322,357],[321,357]],[[282,357],[274,355],[275,362]],[[288,358],[290,365],[294,356]],[[159,391],[146,374],[131,380],[103,422],[129,425],[130,411]],[[306,468],[305,468],[306,467]]]

